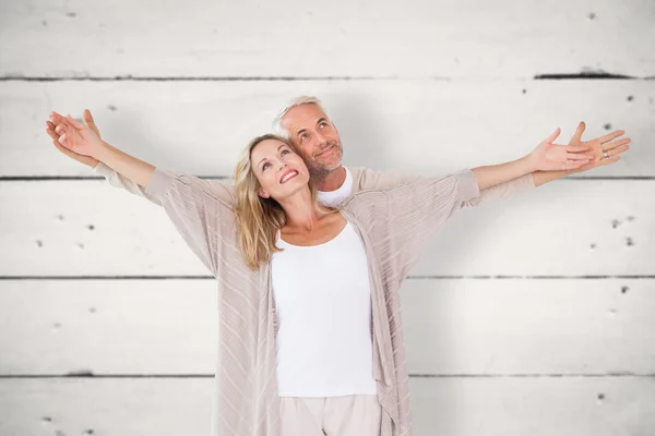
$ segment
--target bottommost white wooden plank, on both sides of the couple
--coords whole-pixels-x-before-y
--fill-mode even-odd
[[[0,434],[207,434],[212,388],[212,378],[0,379]],[[409,389],[417,436],[629,436],[655,428],[652,377],[412,378]]]

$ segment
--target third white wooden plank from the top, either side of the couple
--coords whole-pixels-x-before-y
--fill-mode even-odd
[[[464,209],[412,275],[653,275],[654,191],[560,181]],[[4,182],[0,203],[0,276],[209,275],[162,208],[106,182]]]

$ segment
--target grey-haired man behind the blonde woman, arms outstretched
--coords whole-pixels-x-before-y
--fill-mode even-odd
[[[91,111],[84,110],[84,121],[100,136]],[[59,144],[59,134],[53,129],[55,125],[48,123],[47,133],[52,137],[55,146],[60,152],[92,167],[96,172],[105,177],[112,186],[122,187],[135,195],[147,198],[152,203],[159,204],[157,198],[146,193],[144,186],[133,183],[90,156],[81,156],[64,148]],[[539,186],[568,174],[616,162],[619,160],[619,155],[629,148],[630,138],[609,142],[622,135],[623,131],[615,131],[607,135],[582,142],[584,130],[584,122],[580,122],[567,147],[550,143],[550,141],[557,137],[555,134],[540,145],[565,148],[569,152],[569,156],[575,153],[592,154],[594,159],[588,164],[580,166],[576,164],[576,160],[562,161],[562,167],[559,171],[535,171],[519,178],[500,180],[499,184],[481,190],[480,196],[473,199],[472,204],[478,205],[490,199],[502,198],[515,192]],[[392,187],[414,179],[410,175],[404,177],[370,169],[344,167],[342,164],[343,145],[338,130],[330,120],[321,101],[317,97],[302,96],[291,100],[273,120],[273,131],[289,140],[296,147],[317,183],[321,203],[325,205],[335,205],[341,199],[360,190]],[[588,150],[583,152],[583,147],[588,147]],[[215,181],[215,183],[224,182]]]

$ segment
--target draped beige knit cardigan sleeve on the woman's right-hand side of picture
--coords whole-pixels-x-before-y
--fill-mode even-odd
[[[386,283],[400,287],[427,242],[479,195],[475,173],[464,169],[393,189],[362,191],[343,208],[362,226]]]

